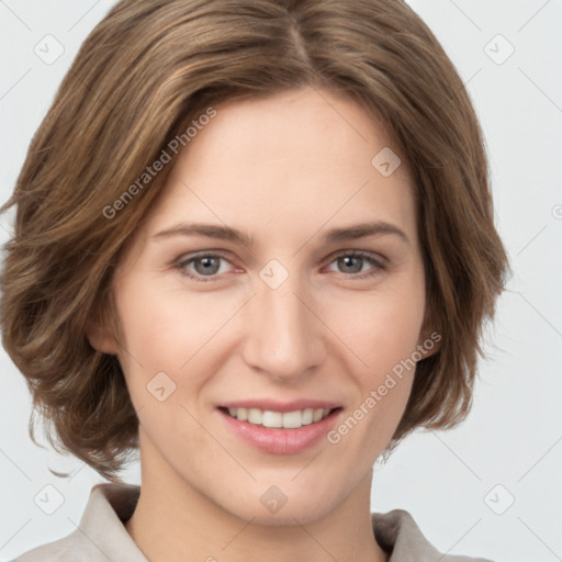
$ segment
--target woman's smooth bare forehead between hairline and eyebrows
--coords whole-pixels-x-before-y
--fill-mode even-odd
[[[357,102],[304,88],[215,109],[180,153],[149,231],[213,222],[294,245],[323,225],[379,220],[415,236],[406,167],[381,173],[392,140]]]

